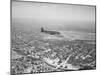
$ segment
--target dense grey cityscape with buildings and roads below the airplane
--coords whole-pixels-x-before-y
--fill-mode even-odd
[[[96,68],[95,40],[45,39],[44,35],[19,32],[11,37],[12,75]]]

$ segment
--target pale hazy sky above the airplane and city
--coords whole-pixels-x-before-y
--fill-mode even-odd
[[[95,32],[95,7],[12,1],[12,24]]]

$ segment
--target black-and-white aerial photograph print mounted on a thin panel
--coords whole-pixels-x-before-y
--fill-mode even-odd
[[[11,0],[11,75],[96,69],[96,7]]]

